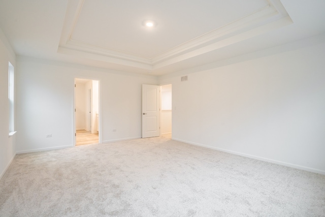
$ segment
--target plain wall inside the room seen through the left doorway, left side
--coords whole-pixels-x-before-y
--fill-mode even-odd
[[[76,101],[76,130],[86,130],[87,94],[85,84],[77,83],[75,92]]]

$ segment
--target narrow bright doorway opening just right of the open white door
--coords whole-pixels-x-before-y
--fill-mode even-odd
[[[161,136],[172,138],[172,84],[160,86]]]

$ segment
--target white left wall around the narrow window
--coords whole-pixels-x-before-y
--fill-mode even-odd
[[[9,137],[8,70],[9,61],[16,71],[15,53],[0,29],[0,178],[15,157],[15,139]]]

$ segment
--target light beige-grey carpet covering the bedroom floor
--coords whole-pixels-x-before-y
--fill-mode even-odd
[[[325,176],[168,137],[18,154],[0,216],[325,216]]]

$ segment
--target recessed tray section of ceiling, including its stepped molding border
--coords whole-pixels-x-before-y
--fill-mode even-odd
[[[58,52],[158,72],[291,23],[279,0],[70,0]]]

